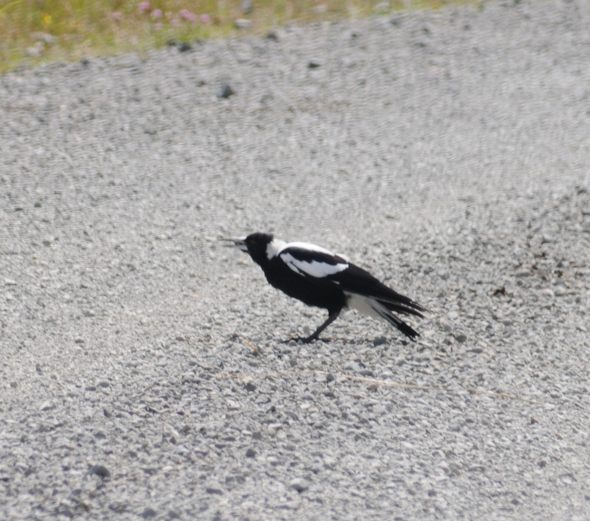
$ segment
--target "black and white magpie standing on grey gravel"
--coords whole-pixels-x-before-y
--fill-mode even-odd
[[[346,308],[383,318],[412,339],[419,336],[394,313],[424,317],[421,311],[425,309],[388,288],[344,255],[306,242],[284,242],[270,233],[221,240],[249,253],[274,288],[307,305],[326,308],[327,320],[309,337],[300,338],[305,343],[316,340]]]

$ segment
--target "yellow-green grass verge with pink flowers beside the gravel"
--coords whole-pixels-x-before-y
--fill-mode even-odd
[[[440,8],[470,0],[0,0],[0,73],[21,65],[75,61],[232,34],[264,34],[287,22]],[[235,27],[248,19],[247,30]]]

